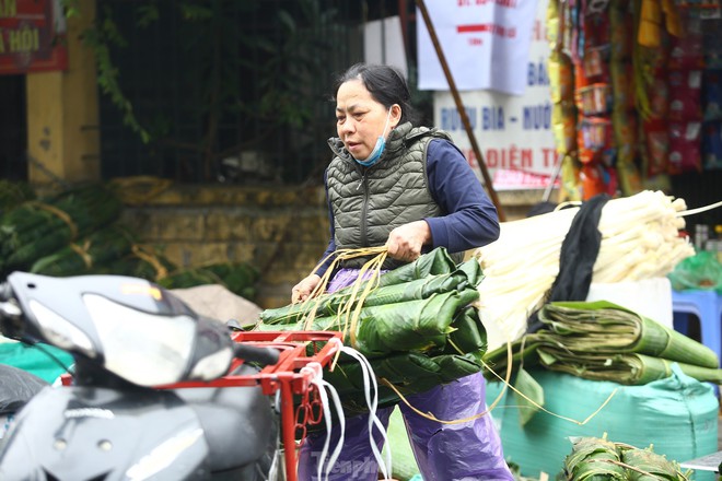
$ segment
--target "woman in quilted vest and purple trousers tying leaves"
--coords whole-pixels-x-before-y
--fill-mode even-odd
[[[498,238],[497,210],[451,138],[415,126],[410,94],[398,72],[386,66],[354,64],[340,77],[335,99],[338,138],[328,142],[334,160],[325,176],[331,236],[323,259],[337,249],[385,246],[384,269],[394,269],[444,246],[462,261],[465,250]],[[345,261],[328,291],[351,284],[366,260]],[[329,263],[326,260],[293,288],[292,302],[311,295]],[[479,373],[407,400],[440,420],[474,417],[486,409],[485,380]],[[488,415],[442,424],[404,403],[399,408],[426,481],[513,480]],[[377,412],[384,425],[392,410]],[[343,449],[329,479],[377,479],[368,421],[366,415],[346,420]],[[331,432],[331,448],[338,434]],[[306,438],[299,479],[316,479],[325,438],[326,433]],[[374,432],[374,439],[381,439],[380,433]]]

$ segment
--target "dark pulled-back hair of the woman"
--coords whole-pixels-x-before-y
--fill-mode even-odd
[[[404,77],[393,67],[372,63],[356,63],[343,72],[336,81],[334,101],[341,84],[350,80],[360,80],[371,96],[384,107],[391,108],[398,104],[401,107],[400,124],[418,121],[418,114],[411,106],[411,94]]]

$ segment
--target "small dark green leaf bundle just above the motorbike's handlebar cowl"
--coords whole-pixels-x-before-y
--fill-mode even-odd
[[[119,224],[93,232],[89,236],[36,260],[31,272],[67,277],[103,271],[105,266],[130,254],[136,244],[132,234]]]

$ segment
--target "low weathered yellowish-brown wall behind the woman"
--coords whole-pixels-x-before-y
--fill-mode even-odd
[[[127,191],[123,222],[179,267],[247,261],[261,272],[263,308],[290,302],[328,242],[323,187],[171,186],[139,201]],[[542,192],[499,192],[508,220]]]

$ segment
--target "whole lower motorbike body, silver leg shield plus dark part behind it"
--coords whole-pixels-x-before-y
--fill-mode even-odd
[[[257,387],[183,391],[46,387],[0,444],[0,479],[257,479],[278,441],[269,399]]]

